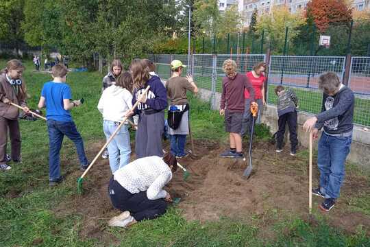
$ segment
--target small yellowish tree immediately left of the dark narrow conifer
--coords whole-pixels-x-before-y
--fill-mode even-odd
[[[240,31],[241,15],[238,6],[232,5],[221,15],[218,36],[225,37],[227,34]]]

